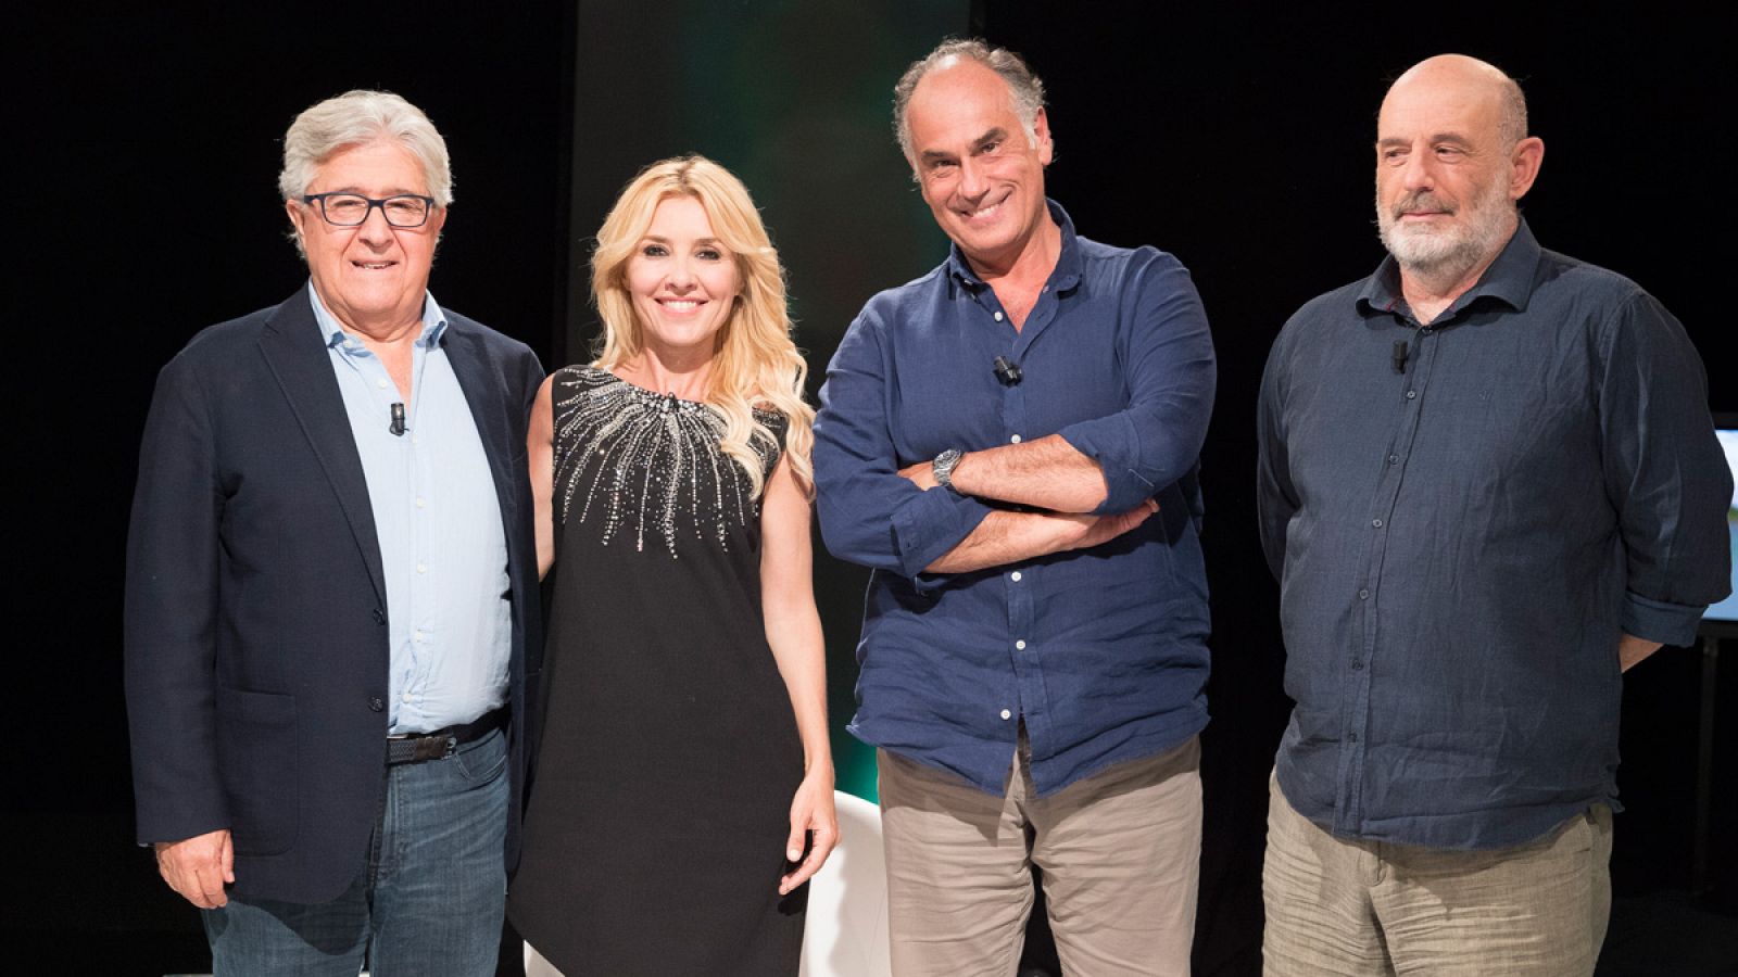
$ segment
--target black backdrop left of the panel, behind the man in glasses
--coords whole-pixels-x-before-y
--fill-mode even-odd
[[[393,89],[447,136],[441,304],[547,356],[565,316],[572,12],[561,3],[59,3],[5,45],[9,963],[210,970],[132,845],[120,588],[151,384],[203,325],[306,282],[276,195],[285,127]]]

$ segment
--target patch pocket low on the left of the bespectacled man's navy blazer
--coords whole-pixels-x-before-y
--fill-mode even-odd
[[[217,768],[236,854],[278,855],[297,834],[295,697],[217,688]]]

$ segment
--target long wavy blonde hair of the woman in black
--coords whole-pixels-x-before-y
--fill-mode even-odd
[[[713,235],[730,252],[742,282],[742,292],[718,330],[704,398],[725,422],[720,447],[747,473],[758,497],[765,476],[753,443],[777,445],[777,438],[754,419],[754,407],[777,410],[789,419],[784,452],[791,459],[791,473],[803,492],[813,494],[810,449],[815,409],[803,400],[808,363],[791,339],[784,268],[747,188],[725,167],[706,156],[676,156],[640,170],[622,189],[598,229],[598,247],[591,254],[591,301],[603,320],[603,341],[593,365],[610,370],[645,348],[640,316],[627,292],[627,261],[652,226],[657,205],[671,196],[700,202]]]

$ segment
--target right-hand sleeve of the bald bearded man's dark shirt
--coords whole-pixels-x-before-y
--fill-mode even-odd
[[[1731,593],[1733,480],[1707,376],[1684,327],[1648,294],[1618,308],[1604,348],[1599,415],[1627,551],[1623,631],[1689,645],[1707,605]]]

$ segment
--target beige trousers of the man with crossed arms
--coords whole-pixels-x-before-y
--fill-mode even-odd
[[[878,751],[895,977],[1008,977],[1043,869],[1069,977],[1185,975],[1201,862],[1201,744],[1039,798],[1022,732],[1003,796]]]

